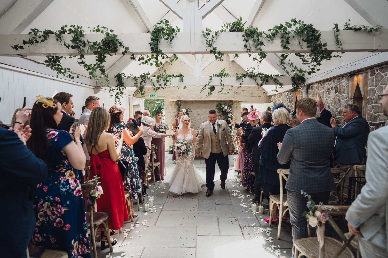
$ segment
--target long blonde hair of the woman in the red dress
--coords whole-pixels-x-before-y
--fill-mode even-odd
[[[85,135],[85,144],[94,146],[97,144],[101,134],[109,129],[111,115],[102,107],[94,108],[90,114],[88,128]]]

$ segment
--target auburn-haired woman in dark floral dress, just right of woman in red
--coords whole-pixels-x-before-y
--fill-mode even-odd
[[[135,153],[130,146],[133,145],[142,135],[143,126],[140,126],[139,133],[132,137],[126,128],[126,125],[123,123],[124,108],[116,105],[111,106],[111,108],[109,108],[109,114],[111,114],[109,132],[116,135],[119,131],[122,131],[122,138],[124,141],[121,154],[118,159],[118,165],[121,175],[123,175],[123,172],[126,172],[123,178],[123,186],[124,190],[130,193],[130,199],[132,200],[131,202],[133,202],[133,200],[137,200],[138,196],[140,196],[142,187],[140,184],[139,169],[137,167]],[[116,148],[117,147],[118,143],[116,142]],[[137,217],[138,214],[133,208],[131,212],[133,217]]]

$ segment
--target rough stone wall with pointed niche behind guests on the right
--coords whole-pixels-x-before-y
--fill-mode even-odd
[[[388,85],[388,64],[359,71],[351,78],[343,75],[310,84],[307,87],[307,97],[321,99],[325,108],[336,118],[338,125],[344,124],[343,106],[351,103],[357,104],[362,110],[362,116],[368,121],[373,131],[388,124],[378,97],[386,85]],[[301,96],[301,90],[298,94]],[[274,104],[283,103],[288,107],[293,107],[296,95],[295,92],[287,91],[274,94],[270,98]]]

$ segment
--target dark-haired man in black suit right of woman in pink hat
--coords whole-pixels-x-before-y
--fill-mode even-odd
[[[260,140],[262,139],[262,131],[263,128],[270,128],[273,125],[271,125],[272,122],[272,113],[270,111],[264,111],[262,115],[260,116],[260,126],[254,126],[252,127],[251,134],[248,137],[248,142],[253,144],[252,148],[252,163],[253,163],[253,170],[255,171],[255,201],[260,201],[260,193],[261,193],[261,180],[258,178],[260,174],[260,156],[262,155],[260,153],[260,149],[258,147],[258,144]],[[268,197],[268,196],[267,196]]]

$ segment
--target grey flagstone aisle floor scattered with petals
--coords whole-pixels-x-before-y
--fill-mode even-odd
[[[130,229],[134,224],[128,236],[124,237],[123,233],[113,235],[118,241],[113,252],[109,252],[109,248],[101,250],[100,243],[97,243],[98,256],[105,258],[110,254],[116,257],[124,253],[124,257],[134,258],[275,258],[277,253],[291,257],[291,224],[289,221],[282,224],[281,239],[278,240],[277,226],[268,227],[263,220],[267,214],[250,211],[253,194],[236,182],[233,157],[229,156],[230,170],[225,190],[220,187],[220,170],[216,166],[215,179],[218,180],[210,197],[205,196],[205,186],[197,194],[178,196],[169,193],[168,184],[163,181],[156,182],[156,185],[151,183],[147,193],[155,196],[156,212],[137,211],[139,216],[134,218],[134,222],[123,226],[123,230]],[[171,173],[175,164],[170,154],[166,154],[166,159],[166,173]],[[196,158],[194,164],[197,169],[206,171],[204,159]],[[136,227],[136,222],[139,222],[139,227]],[[272,243],[266,240],[269,237],[273,238]]]

